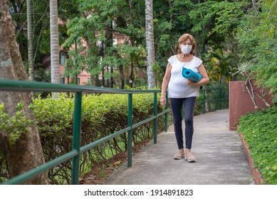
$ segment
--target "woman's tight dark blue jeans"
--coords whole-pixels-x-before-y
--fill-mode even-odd
[[[192,135],[194,132],[193,116],[196,98],[197,97],[170,98],[173,113],[174,131],[178,149],[184,149],[182,130],[182,106],[184,106],[184,135],[186,140],[186,148],[192,149]]]

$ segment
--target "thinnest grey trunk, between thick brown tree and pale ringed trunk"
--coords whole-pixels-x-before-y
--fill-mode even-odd
[[[27,0],[27,31],[28,31],[28,63],[29,80],[34,80],[33,75],[33,6],[31,0]]]

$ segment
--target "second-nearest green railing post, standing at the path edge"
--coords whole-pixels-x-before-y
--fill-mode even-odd
[[[127,146],[127,167],[132,167],[132,94],[128,94],[128,146]]]

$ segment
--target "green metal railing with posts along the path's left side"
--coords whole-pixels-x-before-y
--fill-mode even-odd
[[[167,117],[168,109],[163,112],[157,113],[157,93],[160,90],[118,90],[112,88],[102,88],[102,87],[88,87],[80,85],[59,85],[51,84],[45,82],[28,82],[20,80],[0,80],[0,90],[1,91],[20,91],[20,92],[75,92],[75,102],[74,102],[74,117],[73,117],[73,149],[63,156],[59,156],[47,163],[33,168],[26,173],[23,173],[19,176],[11,178],[9,181],[4,182],[4,184],[21,184],[25,181],[30,180],[38,176],[40,173],[48,171],[49,169],[57,166],[60,163],[72,159],[72,168],[71,168],[71,184],[76,185],[79,183],[79,167],[80,167],[80,154],[83,154],[85,151],[93,149],[99,144],[103,144],[110,139],[113,139],[115,136],[119,136],[127,132],[127,166],[132,166],[132,129],[138,127],[146,122],[154,120],[154,144],[157,143],[157,117],[165,115],[165,131],[167,131]],[[90,144],[85,146],[80,146],[80,127],[81,127],[81,107],[82,107],[82,93],[111,93],[111,94],[126,94],[128,95],[128,115],[127,115],[127,127],[116,131],[109,136],[105,136],[102,139],[93,141]],[[132,95],[141,94],[141,93],[153,93],[154,94],[154,115],[148,119],[145,119],[137,124],[132,124]]]

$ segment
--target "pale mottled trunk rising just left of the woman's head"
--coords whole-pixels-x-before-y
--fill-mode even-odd
[[[155,63],[153,0],[145,0],[145,31],[147,49],[147,85],[149,88],[156,86],[153,65]]]

